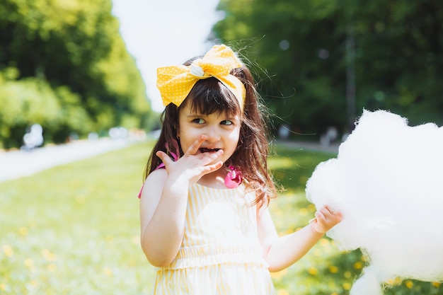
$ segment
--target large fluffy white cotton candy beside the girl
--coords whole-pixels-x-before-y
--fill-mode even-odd
[[[343,212],[328,236],[369,256],[351,295],[382,294],[396,277],[443,280],[443,127],[364,110],[337,158],[316,167],[306,197]]]

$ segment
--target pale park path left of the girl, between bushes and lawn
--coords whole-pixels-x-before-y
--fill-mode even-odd
[[[127,139],[101,138],[50,145],[33,151],[0,151],[0,183],[32,175],[47,168],[90,158],[128,146]]]

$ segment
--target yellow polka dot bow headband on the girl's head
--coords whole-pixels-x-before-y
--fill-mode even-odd
[[[200,79],[217,78],[238,99],[241,108],[245,100],[245,87],[231,69],[243,66],[240,59],[226,45],[215,45],[202,59],[196,59],[190,66],[165,66],[157,69],[157,88],[163,105],[173,103],[180,106],[192,87]]]

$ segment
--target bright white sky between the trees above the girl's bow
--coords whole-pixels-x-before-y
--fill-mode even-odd
[[[205,53],[212,25],[220,19],[218,0],[113,0],[120,33],[146,83],[151,106],[163,110],[156,88],[159,66],[183,64]]]

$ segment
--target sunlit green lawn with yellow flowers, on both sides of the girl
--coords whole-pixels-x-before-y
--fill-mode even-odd
[[[150,294],[155,271],[139,246],[137,199],[150,149],[137,144],[0,183],[0,294]],[[284,191],[270,209],[286,233],[312,218],[306,180],[335,155],[276,153],[270,166]],[[279,295],[347,295],[364,263],[358,250],[342,253],[323,238],[272,278]],[[385,294],[443,294],[443,287],[408,280]]]

